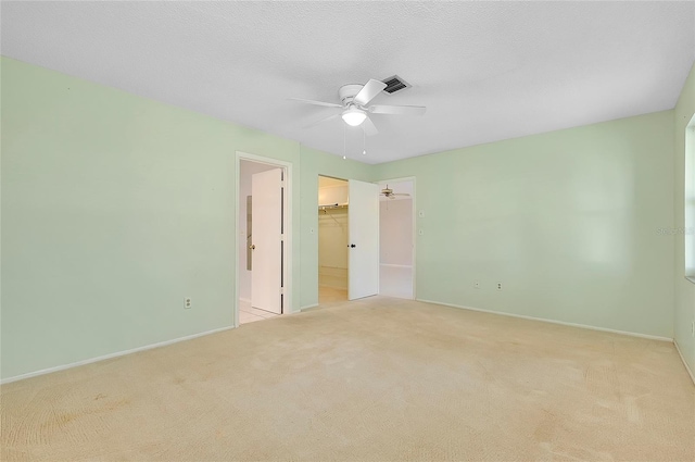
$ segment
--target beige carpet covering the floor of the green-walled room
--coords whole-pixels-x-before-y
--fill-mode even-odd
[[[673,346],[375,297],[1,389],[2,461],[695,459]]]

